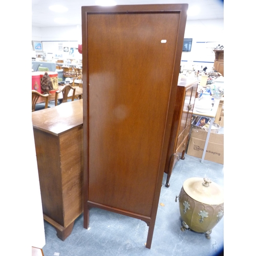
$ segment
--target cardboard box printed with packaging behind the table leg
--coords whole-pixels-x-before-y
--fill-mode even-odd
[[[202,158],[207,132],[192,129],[187,155]],[[224,164],[224,134],[210,133],[205,160]]]

